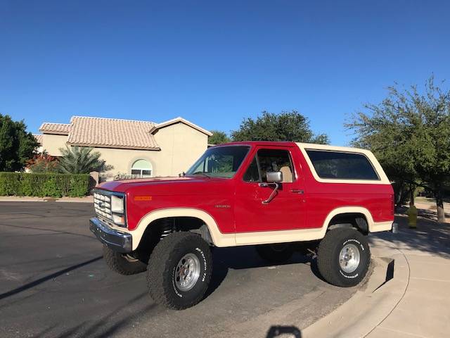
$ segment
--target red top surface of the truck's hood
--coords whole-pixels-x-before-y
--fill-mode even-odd
[[[172,191],[172,187],[179,187],[180,185],[186,186],[186,184],[204,184],[204,183],[219,183],[227,181],[222,178],[215,177],[205,177],[201,175],[195,176],[184,176],[184,177],[155,177],[155,178],[138,178],[135,180],[122,180],[122,181],[111,181],[98,184],[98,188],[110,190],[113,192],[127,192],[127,190],[132,188],[145,189],[146,187],[152,188],[152,190],[157,189],[160,191],[164,189],[167,193]],[[215,185],[215,184],[214,184]]]

